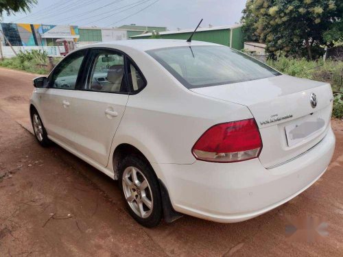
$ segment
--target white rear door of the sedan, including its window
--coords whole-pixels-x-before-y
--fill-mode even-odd
[[[103,167],[128,102],[125,62],[119,51],[92,49],[71,99],[74,147]]]

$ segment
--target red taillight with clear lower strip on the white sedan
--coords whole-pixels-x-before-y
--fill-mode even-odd
[[[259,157],[261,149],[255,119],[245,119],[210,127],[193,146],[192,154],[208,162],[241,162]]]

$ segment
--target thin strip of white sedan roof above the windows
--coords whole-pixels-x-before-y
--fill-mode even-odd
[[[134,39],[134,40],[117,40],[111,42],[101,42],[92,45],[87,45],[82,48],[92,47],[129,47],[139,51],[147,51],[152,49],[168,48],[168,47],[189,47],[196,45],[217,45],[211,42],[192,41],[177,39]],[[222,46],[222,45],[220,45]]]

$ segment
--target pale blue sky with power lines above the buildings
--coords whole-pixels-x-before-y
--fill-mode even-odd
[[[241,19],[246,0],[38,0],[31,12],[8,16],[5,23],[119,27],[137,24],[169,30],[232,25]]]

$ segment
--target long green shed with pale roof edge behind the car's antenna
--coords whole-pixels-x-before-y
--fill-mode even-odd
[[[158,38],[163,39],[185,39],[191,36],[194,29],[182,29],[174,32],[158,32]],[[153,33],[130,36],[132,39],[152,38]],[[219,27],[200,27],[193,36],[193,40],[214,42],[226,45],[233,49],[241,50],[244,48],[243,33],[241,24],[219,26]]]

